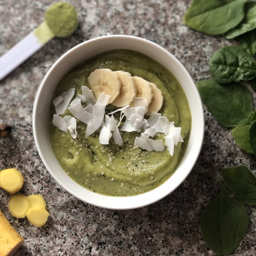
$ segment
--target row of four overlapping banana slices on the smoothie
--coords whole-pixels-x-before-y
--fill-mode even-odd
[[[148,82],[139,76],[119,70],[112,71],[109,68],[95,69],[88,76],[88,83],[96,99],[101,93],[110,95],[108,104],[116,107],[134,106],[134,98],[141,97],[148,101],[148,112],[157,113],[163,104],[163,95],[154,83]]]

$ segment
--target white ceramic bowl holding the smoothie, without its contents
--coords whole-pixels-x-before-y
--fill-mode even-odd
[[[188,147],[175,173],[162,185],[141,195],[117,197],[96,194],[74,182],[57,161],[49,134],[49,113],[54,90],[62,76],[87,59],[114,49],[129,49],[146,54],[167,67],[180,82],[192,115]],[[186,68],[159,45],[134,36],[111,35],[83,42],[69,50],[54,63],[40,83],[33,108],[34,139],[42,162],[49,173],[70,194],[84,202],[108,209],[134,209],[156,202],[174,191],[189,175],[202,147],[204,115],[202,101]]]

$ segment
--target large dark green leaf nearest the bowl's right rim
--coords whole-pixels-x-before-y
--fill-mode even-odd
[[[240,84],[222,85],[214,80],[196,83],[203,103],[216,120],[227,127],[236,127],[238,122],[248,121],[252,114],[252,96]]]

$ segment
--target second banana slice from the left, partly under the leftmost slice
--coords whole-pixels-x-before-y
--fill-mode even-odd
[[[112,102],[112,105],[116,107],[124,107],[134,100],[137,93],[137,88],[132,75],[128,72],[119,70],[114,71],[121,81],[120,94]]]

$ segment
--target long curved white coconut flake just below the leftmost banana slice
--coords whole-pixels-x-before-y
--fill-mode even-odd
[[[98,128],[100,128],[104,119],[104,115],[105,115],[105,105],[101,103],[96,103],[94,105],[94,110],[93,110],[93,119],[88,122],[88,125],[86,128],[86,134],[85,134],[86,137],[88,137],[89,135],[92,135]]]

